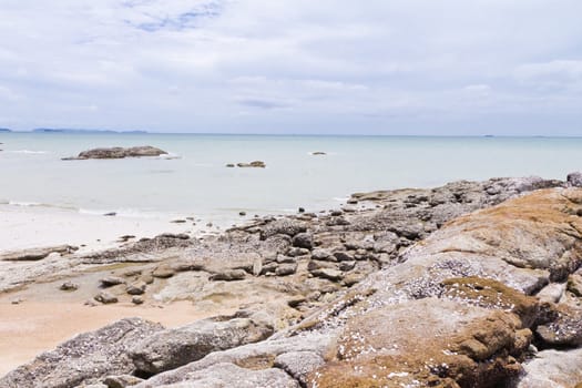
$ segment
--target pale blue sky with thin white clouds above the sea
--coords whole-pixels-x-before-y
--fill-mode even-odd
[[[580,0],[0,0],[0,127],[582,135]]]

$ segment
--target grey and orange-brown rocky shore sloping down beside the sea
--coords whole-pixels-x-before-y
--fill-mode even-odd
[[[217,236],[11,253],[0,295],[14,300],[49,284],[94,308],[234,313],[178,328],[122,319],[0,386],[576,387],[581,185],[579,173],[462,181],[354,194],[341,210]]]

